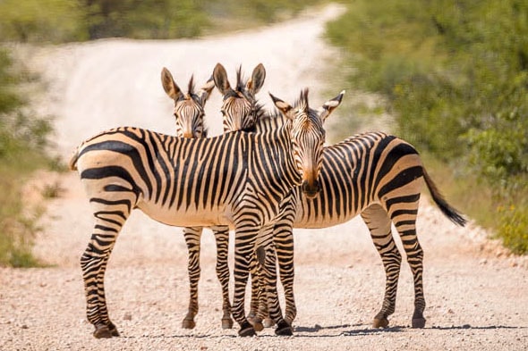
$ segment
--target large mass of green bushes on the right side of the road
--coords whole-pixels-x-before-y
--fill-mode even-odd
[[[327,34],[401,137],[490,187],[498,234],[528,252],[528,3],[356,0]]]

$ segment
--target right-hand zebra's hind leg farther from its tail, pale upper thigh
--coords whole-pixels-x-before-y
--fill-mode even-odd
[[[370,205],[370,207],[365,209],[361,215],[363,221],[365,221],[370,230],[370,236],[374,243],[374,247],[376,247],[381,256],[386,275],[383,305],[381,306],[379,313],[374,317],[372,327],[387,328],[387,317],[394,313],[396,307],[396,290],[402,256],[400,255],[394,238],[392,237],[390,229],[391,222],[388,218],[387,211],[385,211],[380,205]]]

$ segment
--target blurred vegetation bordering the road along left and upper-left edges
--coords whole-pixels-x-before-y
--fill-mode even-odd
[[[283,21],[319,0],[3,0],[0,1],[0,266],[30,267],[41,210],[24,184],[35,171],[60,168],[49,155],[50,116],[31,111],[23,92],[38,81],[13,61],[13,46],[99,38],[195,38]],[[42,197],[57,196],[58,188]]]

